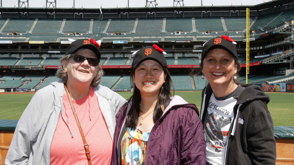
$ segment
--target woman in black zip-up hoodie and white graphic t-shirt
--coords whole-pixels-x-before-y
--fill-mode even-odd
[[[235,42],[227,36],[203,45],[201,120],[206,164],[275,164],[276,144],[268,95],[256,85],[240,85]]]

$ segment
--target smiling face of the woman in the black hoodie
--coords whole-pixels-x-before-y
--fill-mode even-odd
[[[203,60],[202,73],[211,85],[229,86],[237,73],[233,56],[225,49],[209,51]]]

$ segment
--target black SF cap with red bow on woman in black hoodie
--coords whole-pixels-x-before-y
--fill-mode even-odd
[[[218,36],[208,40],[206,43],[203,44],[203,50],[201,54],[201,58],[205,58],[206,54],[213,49],[225,49],[233,56],[238,58],[236,45],[237,43],[234,42],[228,36]]]

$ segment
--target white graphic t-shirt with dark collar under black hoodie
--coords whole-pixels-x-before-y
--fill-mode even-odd
[[[203,131],[206,140],[206,162],[213,165],[224,163],[225,149],[230,126],[234,119],[233,108],[245,87],[238,86],[224,97],[211,95],[205,114]]]

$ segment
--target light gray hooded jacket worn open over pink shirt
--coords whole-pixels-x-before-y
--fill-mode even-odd
[[[99,107],[113,139],[115,115],[126,100],[107,87],[94,87]],[[16,126],[5,164],[49,165],[50,148],[60,112],[64,84],[61,80],[40,89],[32,97]],[[65,122],[66,123],[66,122]],[[71,134],[65,130],[65,134]],[[76,135],[80,136],[80,135]]]

